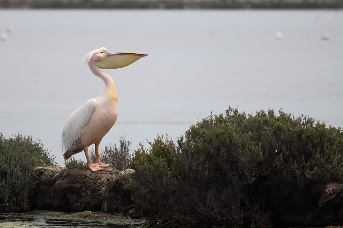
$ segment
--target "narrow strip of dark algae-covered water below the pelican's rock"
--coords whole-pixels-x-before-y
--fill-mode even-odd
[[[0,215],[2,228],[138,228],[142,223],[37,215]]]

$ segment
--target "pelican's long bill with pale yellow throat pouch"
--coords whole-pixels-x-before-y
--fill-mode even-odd
[[[106,52],[101,61],[95,62],[95,66],[102,69],[117,69],[126,67],[147,54],[134,52]]]

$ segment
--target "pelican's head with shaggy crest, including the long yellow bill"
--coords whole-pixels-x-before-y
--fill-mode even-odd
[[[147,54],[134,52],[108,52],[106,48],[99,48],[88,53],[84,59],[86,64],[94,63],[97,68],[116,69],[126,67]]]

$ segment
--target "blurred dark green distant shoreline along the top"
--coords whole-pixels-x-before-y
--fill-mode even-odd
[[[343,9],[343,0],[0,0],[1,9]]]

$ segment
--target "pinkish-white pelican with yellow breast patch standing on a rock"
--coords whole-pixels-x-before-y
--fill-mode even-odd
[[[118,95],[113,79],[101,69],[126,67],[147,54],[133,52],[108,52],[106,48],[96,49],[88,53],[85,63],[92,73],[105,83],[104,91],[96,98],[81,105],[67,119],[61,136],[63,157],[67,161],[81,151],[85,152],[88,168],[95,172],[109,166],[100,162],[99,144],[112,128],[118,116]],[[88,147],[95,145],[95,163],[91,163]]]

